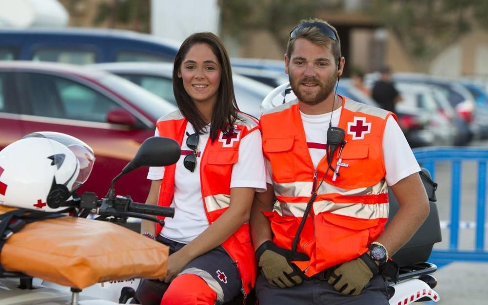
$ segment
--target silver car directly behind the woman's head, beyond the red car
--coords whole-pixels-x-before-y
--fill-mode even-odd
[[[88,68],[114,73],[176,105],[172,63],[112,62],[93,64]],[[236,73],[232,78],[239,109],[258,118],[259,105],[273,88]]]

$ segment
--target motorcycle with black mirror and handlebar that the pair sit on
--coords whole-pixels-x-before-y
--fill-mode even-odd
[[[172,217],[174,210],[161,206],[134,203],[129,196],[115,196],[115,182],[124,174],[140,166],[164,166],[175,163],[179,156],[179,146],[168,143],[168,139],[149,138],[142,143],[134,159],[127,164],[121,174],[114,178],[110,190],[105,198],[97,200],[93,193],[83,193],[80,200],[66,203],[75,207],[79,217],[87,217],[90,213],[98,215],[98,220],[123,224],[129,217],[162,222],[147,215]],[[427,186],[427,185],[426,185]],[[429,196],[430,197],[430,196]],[[394,214],[396,199],[390,194],[391,210]],[[432,198],[433,199],[433,198]],[[97,220],[93,220],[97,221]],[[435,203],[431,202],[431,216],[421,227],[416,236],[431,234],[435,231],[435,224],[439,224]],[[434,229],[433,229],[434,227]],[[121,228],[123,230],[123,228]],[[440,230],[440,228],[439,228]],[[141,236],[146,240],[146,237]],[[432,243],[433,244],[433,243]],[[418,242],[414,238],[400,250],[394,259],[402,262],[398,282],[389,280],[390,305],[408,305],[413,302],[440,300],[433,290],[437,284],[431,275],[437,267],[426,263],[432,244],[421,245],[421,256],[415,255],[412,261],[411,253],[418,252]],[[426,257],[427,256],[427,257]],[[0,305],[120,305],[133,301],[135,290],[139,285],[138,278],[122,278],[104,281],[90,285],[83,289],[61,285],[56,281],[42,277],[32,277],[16,272],[3,272],[0,276]]]

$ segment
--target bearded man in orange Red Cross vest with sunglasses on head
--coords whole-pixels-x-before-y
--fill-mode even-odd
[[[379,270],[428,215],[395,115],[335,94],[344,65],[324,20],[290,32],[285,72],[297,99],[260,120],[269,175],[250,218],[260,305],[387,305]],[[385,229],[387,186],[400,211]]]

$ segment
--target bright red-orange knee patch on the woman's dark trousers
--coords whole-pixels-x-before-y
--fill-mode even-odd
[[[217,294],[201,277],[182,274],[171,282],[161,305],[213,305],[216,300]]]

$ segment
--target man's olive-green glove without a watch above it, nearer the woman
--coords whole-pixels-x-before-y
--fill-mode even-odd
[[[269,284],[280,288],[302,284],[304,273],[291,261],[308,261],[310,258],[299,252],[280,248],[266,241],[256,250],[258,264]]]

